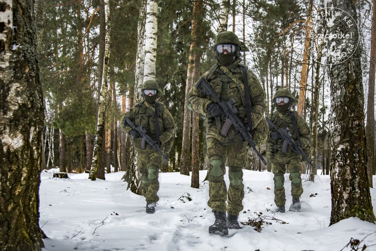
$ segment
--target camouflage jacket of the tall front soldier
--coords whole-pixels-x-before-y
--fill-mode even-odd
[[[215,94],[224,101],[229,101],[231,98],[235,100],[235,106],[238,109],[238,116],[247,122],[246,106],[245,106],[245,96],[244,96],[244,81],[243,81],[243,71],[240,67],[241,59],[238,58],[230,66],[226,66],[236,78],[238,78],[242,83],[237,84],[230,77],[226,75],[219,65],[215,65],[211,70],[204,73],[204,77]],[[249,85],[249,94],[251,101],[251,118],[252,118],[252,129],[254,129],[261,119],[264,117],[265,112],[265,93],[262,89],[260,82],[258,81],[256,75],[251,71],[247,70],[248,75],[248,85]],[[217,135],[220,135],[220,130],[216,128],[214,119],[207,112],[208,105],[211,103],[216,103],[215,99],[212,96],[207,96],[205,93],[200,92],[194,86],[189,92],[188,107],[191,110],[202,113],[205,115],[205,126],[207,127],[207,132],[211,132]],[[223,126],[223,122],[222,122]],[[235,131],[235,127],[231,126],[230,131]],[[229,131],[229,134],[231,134]],[[236,134],[236,132],[235,132]],[[208,136],[208,135],[207,135]],[[240,140],[241,141],[241,140]]]

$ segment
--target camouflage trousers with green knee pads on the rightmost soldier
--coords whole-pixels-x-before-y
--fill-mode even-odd
[[[290,172],[288,178],[291,181],[291,196],[293,198],[300,198],[303,193],[302,178],[300,175],[300,170],[302,166],[300,165],[300,158],[289,158],[286,162],[280,159],[279,162],[271,162],[271,171],[274,174],[274,202],[277,207],[285,205],[285,176],[286,170]],[[287,168],[286,168],[287,166]]]

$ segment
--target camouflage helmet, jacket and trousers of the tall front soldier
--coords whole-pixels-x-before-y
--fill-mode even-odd
[[[220,36],[224,34],[224,36]],[[232,32],[221,32],[215,44],[233,43],[239,44],[239,40]],[[234,40],[233,35],[236,39]],[[221,64],[214,65],[211,70],[204,73],[203,77],[208,81],[215,94],[223,101],[235,100],[235,106],[239,113],[239,118],[247,122],[243,72],[240,67],[241,58],[237,58],[232,64],[225,66],[241,83],[238,84],[229,78],[223,70]],[[252,71],[247,70],[248,83],[251,99],[251,117],[252,117],[252,137],[257,145],[261,145],[267,138],[268,126],[264,118],[265,112],[265,94],[258,79]],[[196,83],[195,83],[196,85]],[[195,85],[189,92],[188,107],[198,113],[205,115],[207,159],[209,162],[209,201],[208,205],[214,211],[226,212],[232,215],[239,215],[243,210],[244,184],[243,167],[247,156],[247,142],[238,135],[235,127],[232,125],[227,136],[221,135],[221,128],[224,124],[224,117],[213,118],[208,112],[207,107],[211,103],[216,103],[211,96],[196,89]],[[227,191],[224,182],[226,172],[225,165],[229,167],[230,185]],[[226,206],[227,200],[227,206]]]

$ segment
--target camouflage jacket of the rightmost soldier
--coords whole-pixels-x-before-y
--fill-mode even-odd
[[[296,126],[298,128],[300,141],[302,141],[302,149],[307,154],[307,151],[310,149],[309,146],[309,126],[307,122],[300,116],[296,111],[293,111],[295,115]],[[294,130],[293,120],[291,118],[290,110],[284,113],[279,112],[278,110],[274,110],[270,113],[269,119],[273,122],[274,125],[276,125],[279,128],[285,129],[286,127],[289,129],[289,132],[292,135],[293,140],[299,145],[298,138],[296,136],[296,132]],[[282,153],[282,144],[283,140],[273,140],[270,137],[270,133],[275,132],[274,129],[271,129],[268,133],[268,139],[267,139],[267,153],[269,155],[269,158],[278,158],[278,156],[284,157],[284,156],[292,156],[297,157],[294,155],[299,155],[299,153],[291,151],[290,147],[287,148],[286,153]],[[278,155],[278,156],[277,156]],[[300,156],[300,155],[299,155]]]

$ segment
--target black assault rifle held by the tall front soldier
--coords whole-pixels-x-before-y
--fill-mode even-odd
[[[215,101],[217,101],[219,107],[221,108],[224,116],[226,117],[226,122],[224,123],[221,131],[221,135],[226,136],[227,131],[229,130],[231,124],[235,126],[235,129],[238,130],[240,135],[245,139],[248,144],[253,148],[257,156],[261,159],[261,161],[266,165],[266,161],[262,158],[262,155],[256,149],[256,143],[252,139],[252,135],[249,132],[249,127],[246,127],[243,122],[241,122],[240,118],[237,116],[238,109],[234,106],[235,100],[232,98],[229,102],[225,102],[218,98],[215,94],[214,90],[209,86],[208,82],[205,78],[201,78],[197,84],[195,85],[197,90],[200,92],[205,93],[208,96],[212,96]]]

